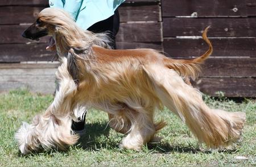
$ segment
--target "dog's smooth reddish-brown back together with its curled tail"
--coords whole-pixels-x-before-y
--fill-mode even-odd
[[[167,68],[174,69],[182,77],[189,78],[193,80],[199,75],[200,64],[202,64],[213,52],[212,44],[207,37],[208,28],[205,28],[203,32],[203,39],[209,46],[207,52],[205,52],[200,57],[192,60],[179,60],[170,59],[164,56],[159,51],[154,49],[105,49],[102,47],[93,46],[94,55],[96,55],[96,60],[101,63],[118,62],[125,60],[139,60],[142,64],[152,64],[160,63]]]

